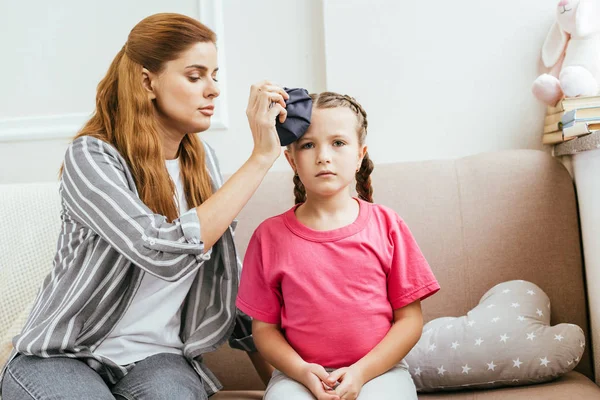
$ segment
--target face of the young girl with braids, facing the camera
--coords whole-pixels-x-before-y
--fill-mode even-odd
[[[285,152],[307,196],[329,197],[354,181],[367,152],[358,142],[357,124],[348,107],[313,108],[308,130]]]

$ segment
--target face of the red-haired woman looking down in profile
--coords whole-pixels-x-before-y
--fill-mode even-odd
[[[159,74],[144,69],[144,84],[151,86],[160,125],[185,135],[210,127],[217,87],[217,48],[200,42],[179,58],[165,63]]]

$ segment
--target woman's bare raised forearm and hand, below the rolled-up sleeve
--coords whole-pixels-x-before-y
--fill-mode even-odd
[[[284,99],[289,95],[270,82],[252,85],[246,115],[254,139],[250,158],[208,200],[196,207],[204,251],[219,240],[254,194],[281,153],[275,119],[287,115]],[[269,107],[273,103],[272,107]]]

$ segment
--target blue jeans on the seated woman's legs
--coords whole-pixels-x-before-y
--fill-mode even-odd
[[[83,361],[18,356],[8,365],[2,400],[207,400],[202,380],[181,355],[161,353],[136,363],[107,385]]]

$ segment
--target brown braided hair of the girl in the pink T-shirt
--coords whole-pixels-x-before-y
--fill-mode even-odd
[[[356,101],[354,97],[339,94],[335,92],[313,93],[310,95],[314,108],[336,108],[347,107],[356,114],[358,120],[358,142],[362,146],[367,138],[367,112]],[[288,146],[289,148],[289,146]],[[356,172],[356,193],[358,197],[369,203],[373,202],[373,187],[371,186],[371,172],[373,172],[373,162],[367,152]],[[306,189],[300,180],[298,174],[294,175],[294,196],[296,204],[306,201]]]

